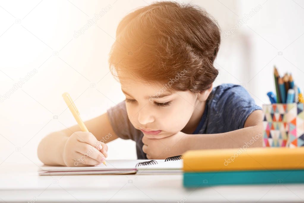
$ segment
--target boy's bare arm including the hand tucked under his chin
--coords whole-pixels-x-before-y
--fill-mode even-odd
[[[148,159],[166,159],[188,150],[262,147],[263,131],[262,110],[255,110],[247,117],[244,128],[234,131],[191,135],[180,131],[159,139],[143,136],[143,152]]]

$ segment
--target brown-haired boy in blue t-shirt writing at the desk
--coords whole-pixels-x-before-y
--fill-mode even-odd
[[[217,23],[192,5],[157,2],[128,14],[109,58],[126,100],[86,121],[90,133],[75,125],[46,136],[38,157],[50,165],[94,166],[108,156],[105,143],[118,137],[136,142],[138,159],[261,147],[261,107],[241,86],[212,87],[219,44]]]

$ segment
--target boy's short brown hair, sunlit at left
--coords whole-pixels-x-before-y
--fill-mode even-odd
[[[219,26],[204,9],[155,2],[120,21],[109,56],[110,71],[116,78],[123,71],[155,83],[168,83],[179,75],[171,89],[197,93],[209,89],[218,75],[213,62],[219,44]]]

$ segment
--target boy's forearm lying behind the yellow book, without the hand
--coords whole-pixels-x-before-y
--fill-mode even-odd
[[[219,134],[187,136],[187,150],[262,147],[263,127],[250,126]]]

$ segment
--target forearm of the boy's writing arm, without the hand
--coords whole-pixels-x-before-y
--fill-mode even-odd
[[[47,165],[65,165],[64,145],[69,137],[63,132],[54,132],[44,137],[38,145],[38,158]]]

